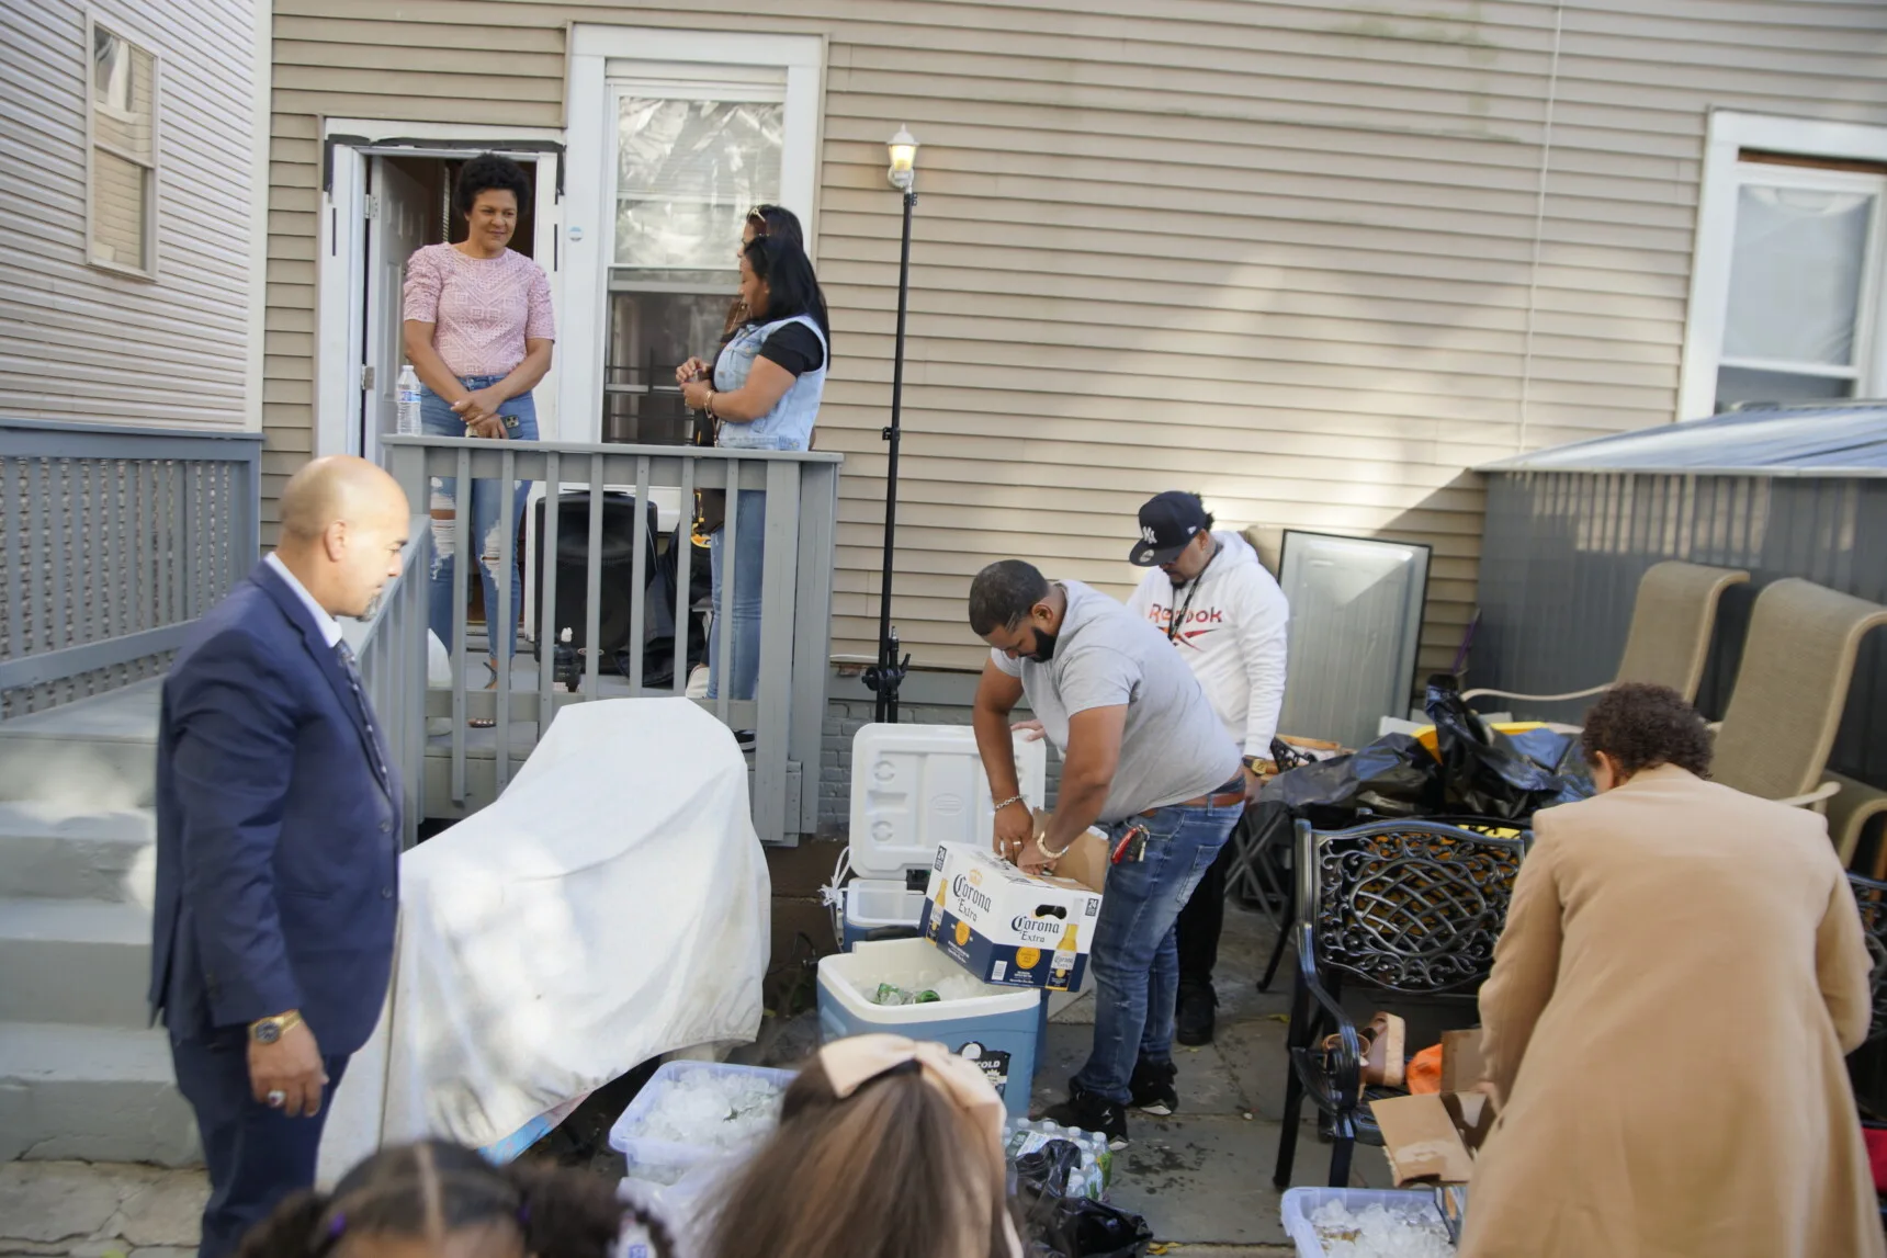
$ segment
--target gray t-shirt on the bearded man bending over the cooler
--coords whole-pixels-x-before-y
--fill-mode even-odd
[[[1068,613],[1047,664],[989,658],[1021,677],[1028,707],[1049,739],[1068,751],[1068,719],[1091,707],[1127,703],[1121,762],[1100,820],[1179,803],[1238,773],[1238,745],[1166,636],[1100,590],[1059,581]]]

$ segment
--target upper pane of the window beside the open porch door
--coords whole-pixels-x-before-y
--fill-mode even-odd
[[[783,104],[625,96],[615,262],[732,266],[742,217],[779,200],[783,124]]]

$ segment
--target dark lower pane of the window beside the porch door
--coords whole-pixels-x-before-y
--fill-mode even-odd
[[[604,441],[674,445],[689,436],[676,366],[713,358],[728,294],[613,292],[604,390]]]

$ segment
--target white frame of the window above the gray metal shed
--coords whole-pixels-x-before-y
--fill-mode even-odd
[[[1698,189],[1696,247],[1691,255],[1691,304],[1683,338],[1683,373],[1678,387],[1678,419],[1708,419],[1717,409],[1717,370],[1723,364],[1723,330],[1730,307],[1730,260],[1736,253],[1736,204],[1745,183],[1798,183],[1802,187],[1853,187],[1844,172],[1815,168],[1759,166],[1742,160],[1744,149],[1804,158],[1845,162],[1887,162],[1887,126],[1861,123],[1823,123],[1762,113],[1713,109],[1704,143],[1704,175]],[[1879,202],[1878,202],[1879,207]],[[1866,273],[1855,321],[1855,364],[1861,375],[1855,396],[1876,396],[1887,389],[1887,300],[1881,266],[1887,241],[1876,219],[1868,238]],[[1798,366],[1787,366],[1800,372]]]

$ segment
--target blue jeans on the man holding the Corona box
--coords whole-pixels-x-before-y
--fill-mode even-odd
[[[1179,947],[1174,924],[1193,888],[1219,856],[1244,813],[1228,807],[1162,807],[1110,826],[1119,843],[1128,826],[1147,828],[1144,860],[1108,869],[1108,894],[1094,922],[1094,1049],[1076,1077],[1083,1092],[1127,1105],[1127,1083],[1140,1060],[1172,1060],[1174,1001],[1179,992]]]

